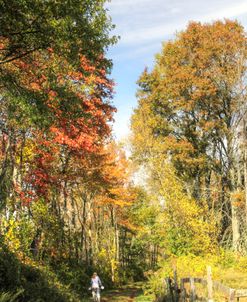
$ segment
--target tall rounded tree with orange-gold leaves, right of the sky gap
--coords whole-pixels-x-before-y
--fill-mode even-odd
[[[220,240],[230,238],[232,226],[235,249],[244,230],[231,196],[243,188],[236,177],[242,155],[236,150],[245,119],[245,62],[246,37],[239,23],[192,22],[164,44],[153,71],[143,73],[136,113],[151,112],[147,127],[160,152],[194,198],[206,199],[213,212],[220,212]]]

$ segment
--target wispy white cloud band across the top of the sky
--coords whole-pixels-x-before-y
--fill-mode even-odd
[[[208,22],[247,13],[246,1],[113,0],[109,6],[120,45],[162,41],[183,29],[188,21]]]

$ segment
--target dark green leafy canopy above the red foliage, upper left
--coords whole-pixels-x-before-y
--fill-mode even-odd
[[[1,64],[52,48],[71,62],[95,59],[116,41],[105,0],[0,1]]]

